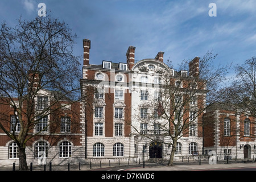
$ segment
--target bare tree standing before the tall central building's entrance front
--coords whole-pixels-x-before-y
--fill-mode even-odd
[[[158,97],[150,97],[138,106],[138,115],[134,116],[131,126],[139,135],[156,142],[171,146],[169,166],[174,163],[176,144],[181,137],[203,137],[202,116],[205,110],[218,102],[217,90],[225,80],[225,67],[216,67],[213,60],[216,55],[208,52],[199,59],[196,71],[190,71],[188,64],[180,64],[180,72],[170,68],[159,75]],[[193,61],[193,60],[192,60]],[[137,122],[135,122],[137,121]],[[139,129],[139,123],[145,123],[147,129]]]

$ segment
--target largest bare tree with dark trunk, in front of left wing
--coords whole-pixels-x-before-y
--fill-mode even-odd
[[[42,119],[79,98],[80,64],[72,49],[76,35],[49,15],[20,18],[16,27],[3,23],[0,33],[0,103],[15,115],[14,123],[7,127],[1,119],[0,127],[18,146],[19,169],[27,170],[26,143],[51,125],[42,125]],[[63,100],[68,104],[60,104]],[[10,130],[18,125],[19,133]]]

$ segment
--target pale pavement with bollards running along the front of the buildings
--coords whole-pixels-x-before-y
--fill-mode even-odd
[[[168,166],[167,163],[115,163],[111,164],[84,164],[84,165],[61,165],[61,166],[52,166],[51,171],[111,171],[117,170],[117,167],[120,169],[124,168],[125,171],[202,171],[202,170],[216,170],[216,169],[242,169],[242,168],[255,168],[256,163],[254,160],[219,160],[216,164],[209,164],[208,160],[191,161],[191,162],[174,162],[174,166]],[[16,170],[19,169],[18,166],[15,167]],[[44,166],[33,166],[33,171],[44,171]],[[45,167],[46,171],[50,171],[49,165]],[[13,171],[13,167],[0,167],[0,171]]]

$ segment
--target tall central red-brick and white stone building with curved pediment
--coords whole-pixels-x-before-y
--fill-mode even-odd
[[[150,140],[143,135],[162,134],[161,119],[154,125],[146,125],[150,109],[143,108],[144,103],[155,100],[159,90],[159,77],[163,72],[170,73],[170,80],[179,84],[181,89],[188,88],[189,79],[195,78],[199,71],[199,57],[189,63],[189,72],[176,72],[163,62],[164,52],[158,52],[154,59],[135,61],[135,47],[130,46],[126,52],[126,61],[115,63],[103,60],[95,65],[89,60],[90,40],[83,40],[84,64],[82,67],[81,90],[86,96],[81,110],[84,115],[85,127],[85,160],[131,160],[151,158],[166,159],[171,153],[168,137]],[[205,100],[205,93],[199,97]],[[194,100],[193,106],[198,107],[203,102]],[[152,111],[151,111],[152,113]],[[189,118],[189,111],[185,113]],[[187,129],[187,133],[177,143],[175,159],[181,155],[192,156],[193,152],[202,154],[203,132],[202,115],[195,118],[195,127]],[[190,131],[189,131],[190,130]],[[143,134],[143,135],[142,135]],[[143,146],[147,145],[143,153]]]

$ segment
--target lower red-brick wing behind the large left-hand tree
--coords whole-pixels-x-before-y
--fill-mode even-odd
[[[35,137],[26,143],[27,163],[39,164],[67,164],[78,163],[84,156],[84,138],[82,132],[82,123],[80,122],[80,102],[72,103],[70,100],[61,99],[55,103],[54,98],[57,92],[41,89],[35,97],[35,112],[49,109],[55,110],[51,114],[44,114],[38,119],[38,123],[34,125],[28,132],[27,138],[32,135]],[[20,133],[20,122],[14,107],[18,106],[18,99],[12,98],[10,102],[6,98],[0,98],[0,122],[5,130]],[[61,106],[60,109],[57,109]],[[27,112],[26,101],[22,103],[23,113]],[[26,115],[22,115],[22,120],[27,124]],[[51,125],[49,125],[51,123]],[[39,133],[40,134],[36,134]],[[19,150],[14,140],[7,137],[5,132],[0,129],[0,166],[11,166],[13,163],[19,165]]]

